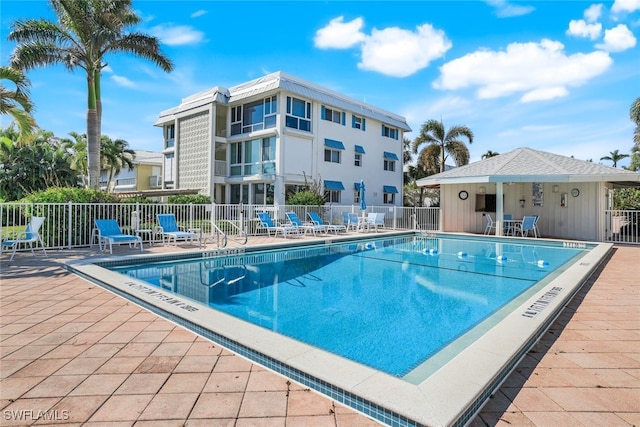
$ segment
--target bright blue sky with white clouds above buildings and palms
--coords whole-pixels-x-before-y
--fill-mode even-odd
[[[640,0],[150,1],[136,28],[161,40],[165,73],[108,56],[102,132],[160,151],[160,111],[213,86],[284,71],[422,123],[466,125],[471,161],[531,147],[597,163],[629,153],[629,108],[640,96]],[[45,1],[0,4],[1,62],[17,19],[54,19]],[[38,125],[86,132],[82,70],[28,73]],[[9,124],[2,117],[0,124]],[[628,165],[628,159],[618,166]]]

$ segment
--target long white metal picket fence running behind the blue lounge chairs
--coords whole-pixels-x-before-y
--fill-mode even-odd
[[[185,228],[199,228],[204,233],[211,231],[211,222],[227,234],[241,230],[249,236],[262,232],[257,212],[268,211],[275,220],[286,222],[285,212],[293,211],[303,220],[307,212],[317,212],[328,224],[342,224],[342,212],[366,215],[369,212],[384,213],[385,228],[394,230],[438,230],[438,208],[403,208],[370,206],[365,212],[357,205],[324,206],[268,206],[268,205],[178,205],[145,203],[0,203],[0,233],[2,238],[11,238],[29,222],[32,216],[45,217],[41,234],[47,249],[90,246],[95,241],[93,232],[95,219],[116,219],[122,230],[135,233],[138,230],[154,230],[156,215],[173,213],[178,224]],[[233,224],[230,225],[230,224]],[[144,233],[143,238],[155,239],[153,232]]]

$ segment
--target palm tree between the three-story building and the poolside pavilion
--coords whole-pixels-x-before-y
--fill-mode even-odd
[[[456,125],[445,131],[442,121],[431,119],[420,128],[420,134],[413,141],[413,152],[418,154],[420,146],[425,142],[428,144],[418,155],[428,171],[439,169],[444,172],[447,156],[453,157],[457,166],[466,165],[469,163],[469,149],[459,139],[461,136],[466,137],[469,144],[473,143],[473,132],[467,126]]]

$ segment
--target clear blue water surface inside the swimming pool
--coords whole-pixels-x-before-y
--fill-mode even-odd
[[[403,377],[583,252],[411,236],[113,270]]]

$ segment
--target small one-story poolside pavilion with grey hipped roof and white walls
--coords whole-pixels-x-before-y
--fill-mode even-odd
[[[611,191],[640,187],[640,174],[531,148],[518,148],[418,180],[440,188],[440,230],[482,233],[487,215],[540,217],[545,237],[605,241],[615,224],[606,215]]]

